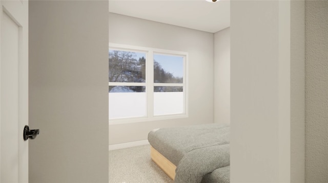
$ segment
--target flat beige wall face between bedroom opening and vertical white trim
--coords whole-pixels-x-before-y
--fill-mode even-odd
[[[231,2],[231,182],[279,182],[278,24],[278,3]]]

